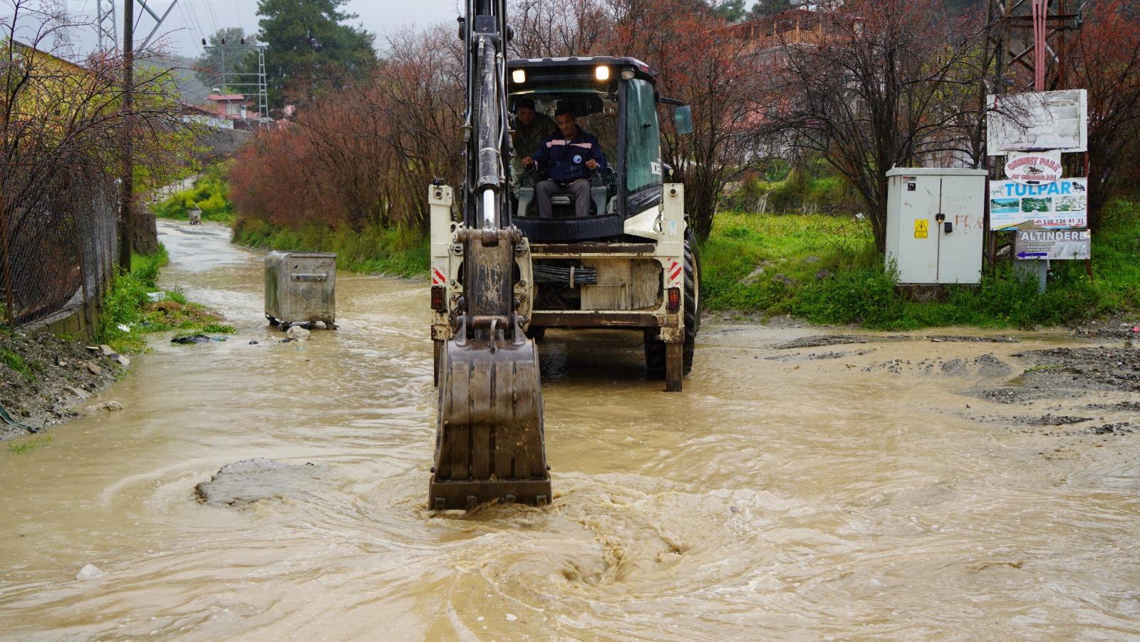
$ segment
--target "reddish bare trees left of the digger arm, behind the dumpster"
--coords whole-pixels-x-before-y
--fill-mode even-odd
[[[427,226],[426,186],[462,173],[461,47],[443,25],[388,44],[368,82],[318,99],[292,128],[242,151],[230,195],[243,217],[357,231]]]

